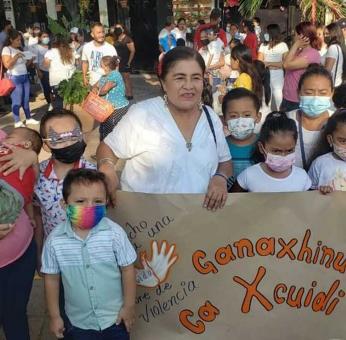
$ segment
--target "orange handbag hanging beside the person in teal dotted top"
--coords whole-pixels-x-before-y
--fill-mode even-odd
[[[94,92],[90,92],[85,98],[82,109],[100,123],[106,121],[115,110],[109,101]]]

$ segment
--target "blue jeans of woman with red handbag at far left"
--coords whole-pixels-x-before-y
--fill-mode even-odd
[[[22,106],[25,112],[25,117],[31,117],[29,100],[30,100],[30,81],[27,74],[21,76],[11,76],[11,80],[16,85],[16,88],[11,93],[12,112],[14,121],[19,122],[19,110]]]

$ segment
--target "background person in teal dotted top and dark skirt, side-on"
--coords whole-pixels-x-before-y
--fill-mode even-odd
[[[129,101],[125,95],[125,84],[123,77],[118,71],[119,59],[117,57],[105,56],[101,60],[101,68],[105,75],[93,86],[93,92],[110,102],[114,112],[107,120],[100,124],[100,140],[113,131],[129,109]]]

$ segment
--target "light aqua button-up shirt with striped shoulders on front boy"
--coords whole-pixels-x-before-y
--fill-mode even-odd
[[[46,240],[42,272],[61,275],[73,326],[104,330],[115,323],[123,305],[119,267],[133,264],[136,257],[125,231],[107,217],[84,240],[65,222]]]

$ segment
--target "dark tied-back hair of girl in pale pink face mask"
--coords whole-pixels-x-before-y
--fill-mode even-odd
[[[297,142],[298,130],[296,122],[293,119],[288,118],[284,112],[273,111],[266,117],[259,133],[257,146],[253,154],[253,160],[255,163],[265,161],[264,155],[259,150],[259,142],[264,146],[273,135],[279,132],[291,133],[294,140]]]

